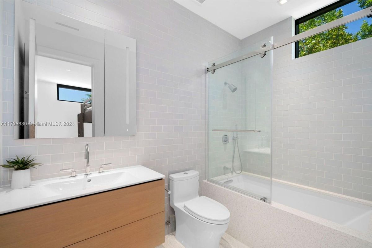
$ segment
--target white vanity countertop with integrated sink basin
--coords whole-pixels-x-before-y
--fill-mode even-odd
[[[104,173],[92,172],[88,176],[78,174],[72,178],[64,176],[32,181],[31,186],[23,189],[3,186],[0,187],[0,214],[151,182],[164,177],[163,174],[137,165],[107,170]]]

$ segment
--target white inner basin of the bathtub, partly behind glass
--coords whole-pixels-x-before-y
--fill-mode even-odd
[[[227,178],[218,181],[259,196],[269,196],[270,183],[263,178],[240,174],[229,177],[228,181]],[[361,232],[367,232],[371,224],[372,206],[275,181],[272,182],[272,202]]]

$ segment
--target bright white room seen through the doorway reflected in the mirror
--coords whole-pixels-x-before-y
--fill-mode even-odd
[[[35,121],[65,125],[57,134],[54,126],[36,126],[35,138],[92,137],[92,68],[44,56],[37,59]]]

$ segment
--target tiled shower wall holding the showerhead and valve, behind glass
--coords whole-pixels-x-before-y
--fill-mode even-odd
[[[214,74],[208,74],[208,101],[209,101],[209,127],[212,129],[235,129],[235,124],[242,129],[241,118],[241,100],[243,99],[241,82],[241,65],[235,63],[226,66],[224,70],[216,71]],[[231,92],[224,82],[238,87],[237,91]],[[222,135],[228,135],[228,144],[222,143]],[[232,158],[232,137],[234,133],[210,131],[208,136],[208,162],[209,177],[221,176],[223,173],[229,173],[223,167],[231,168]]]

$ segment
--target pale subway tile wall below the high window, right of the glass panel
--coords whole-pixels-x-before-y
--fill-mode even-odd
[[[242,47],[291,37],[293,22],[251,35]],[[293,44],[274,50],[274,178],[372,200],[371,47],[369,38],[296,59]]]

